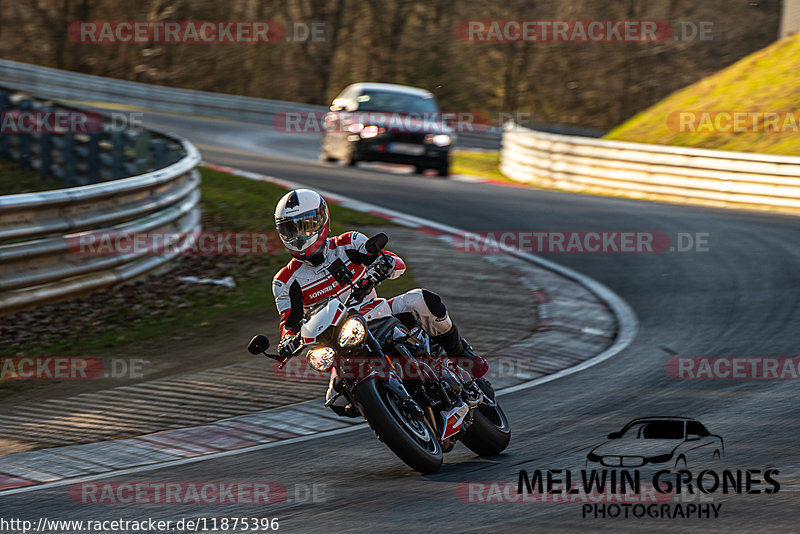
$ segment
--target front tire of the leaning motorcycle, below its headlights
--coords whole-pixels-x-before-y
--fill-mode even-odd
[[[365,380],[354,391],[364,418],[378,437],[409,467],[422,474],[442,467],[442,447],[430,425],[407,417],[400,399],[383,382]]]

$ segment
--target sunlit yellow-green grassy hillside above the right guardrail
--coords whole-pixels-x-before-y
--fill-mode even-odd
[[[673,93],[606,139],[800,155],[800,35]]]

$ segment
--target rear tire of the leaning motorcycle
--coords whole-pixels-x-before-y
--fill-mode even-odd
[[[483,391],[484,400],[473,410],[472,425],[464,433],[461,443],[479,456],[496,456],[511,441],[511,424],[486,380],[479,378],[475,383]]]

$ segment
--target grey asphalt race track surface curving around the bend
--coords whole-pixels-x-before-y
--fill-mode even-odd
[[[84,520],[278,517],[280,529],[287,532],[800,530],[795,522],[800,512],[799,383],[673,380],[665,369],[674,355],[800,356],[800,219],[340,168],[315,160],[318,145],[312,136],[151,113],[145,122],[195,141],[206,161],[317,186],[458,228],[708,233],[710,251],[547,255],[625,299],[638,317],[639,332],[622,353],[589,370],[503,397],[513,438],[500,457],[477,458],[459,445],[446,455],[441,472],[419,476],[368,429],[361,429],[108,479],[275,481],[288,489],[288,499],[274,505],[79,505],[63,486],[2,497],[0,516],[34,522],[43,515]],[[264,216],[271,217],[272,209],[264,206]],[[579,470],[588,450],[607,433],[633,418],[658,415],[697,418],[725,439],[719,469],[778,469],[780,491],[715,493],[714,504],[722,504],[717,519],[592,519],[582,517],[581,504],[459,499],[457,489],[464,482],[516,482],[520,469]],[[689,469],[695,466],[701,469],[702,462]],[[304,494],[303,488],[313,484],[324,487],[324,500],[296,498],[295,487]]]

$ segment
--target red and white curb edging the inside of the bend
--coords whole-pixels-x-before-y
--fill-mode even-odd
[[[306,187],[288,180],[230,167],[208,164],[207,167],[251,180],[273,183],[287,189]],[[401,226],[415,228],[441,239],[450,241],[452,236],[464,235],[463,231],[451,226],[336,193],[316,190],[334,204],[369,213]],[[517,261],[511,261],[512,258]],[[497,359],[493,359],[493,364],[510,362],[512,365],[519,365],[521,362],[526,364],[531,362],[532,354],[537,355],[536,365],[523,369],[522,375],[512,376],[505,381],[493,378],[495,385],[499,387],[507,385],[509,380],[512,383],[521,379],[526,380],[499,390],[498,395],[530,388],[597,365],[622,351],[635,337],[637,322],[633,311],[621,298],[596,280],[519,251],[492,256],[490,261],[520,279],[523,286],[531,292],[532,298],[538,299],[540,311],[545,312],[544,332],[513,345]],[[537,272],[530,272],[532,268]],[[558,295],[553,298],[554,295],[550,291],[545,292],[541,287],[550,288],[548,280],[543,280],[542,269],[549,272],[554,283],[556,279],[561,280],[561,286],[565,285],[564,280],[573,282],[574,287],[568,291],[578,294],[572,295],[572,298],[559,298]],[[581,295],[581,292],[585,295]],[[600,354],[589,359],[578,359],[577,354],[564,354],[563,349],[569,344],[569,339],[580,338],[578,343],[574,343],[577,353],[586,348],[581,345],[580,340],[586,339],[587,336],[599,339],[609,337],[608,324],[600,327],[584,325],[576,329],[574,324],[570,325],[569,321],[562,320],[562,313],[568,313],[567,307],[574,306],[574,302],[589,306],[591,301],[585,298],[586,296],[592,297],[595,301],[599,300],[594,304],[596,308],[594,316],[599,323],[603,322],[601,317],[603,313],[608,316],[606,312],[611,311],[616,335],[613,336],[613,340],[606,339],[611,344]],[[559,305],[560,300],[563,303]],[[558,357],[545,358],[542,364],[541,357],[553,351],[560,351]],[[319,400],[313,400],[232,417],[211,424],[165,430],[135,438],[11,453],[0,456],[0,496],[243,454],[283,444],[325,438],[366,427],[367,424],[358,419],[336,416]]]

